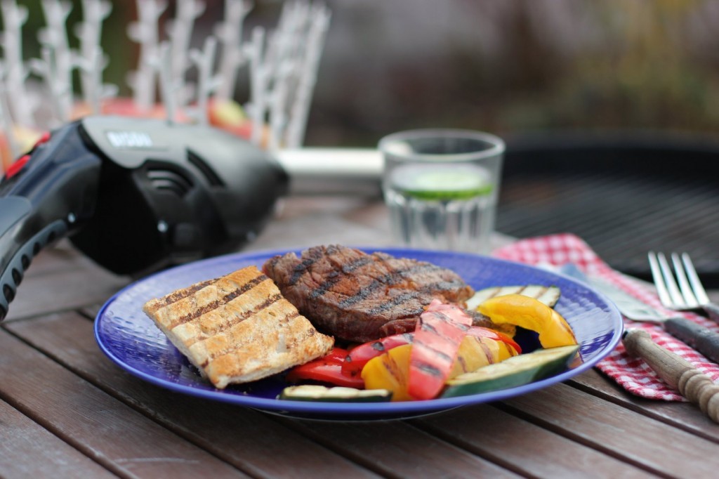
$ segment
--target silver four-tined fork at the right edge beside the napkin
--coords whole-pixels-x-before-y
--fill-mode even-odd
[[[701,310],[710,319],[719,322],[719,305],[709,300],[692,259],[687,253],[684,252],[682,255],[672,253],[674,274],[664,253],[649,252],[648,256],[651,275],[661,304],[675,311]],[[676,281],[674,275],[677,276]]]

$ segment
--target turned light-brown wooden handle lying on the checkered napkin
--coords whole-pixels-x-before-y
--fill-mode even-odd
[[[624,347],[630,355],[641,357],[664,381],[697,404],[709,418],[719,423],[719,386],[683,357],[665,350],[641,329],[627,329]]]

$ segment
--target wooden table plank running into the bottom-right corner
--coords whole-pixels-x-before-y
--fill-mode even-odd
[[[715,442],[566,384],[511,398],[504,404],[514,414],[652,473],[687,477],[687,464],[692,464],[692,477],[709,478],[719,468]]]

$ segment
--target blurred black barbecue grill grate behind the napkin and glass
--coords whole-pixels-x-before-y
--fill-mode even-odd
[[[719,147],[554,140],[508,144],[499,232],[574,233],[646,280],[649,250],[686,251],[707,286],[719,287]]]

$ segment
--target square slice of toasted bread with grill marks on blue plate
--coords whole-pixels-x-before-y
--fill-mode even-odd
[[[255,266],[152,299],[142,310],[216,388],[280,373],[334,345]]]

